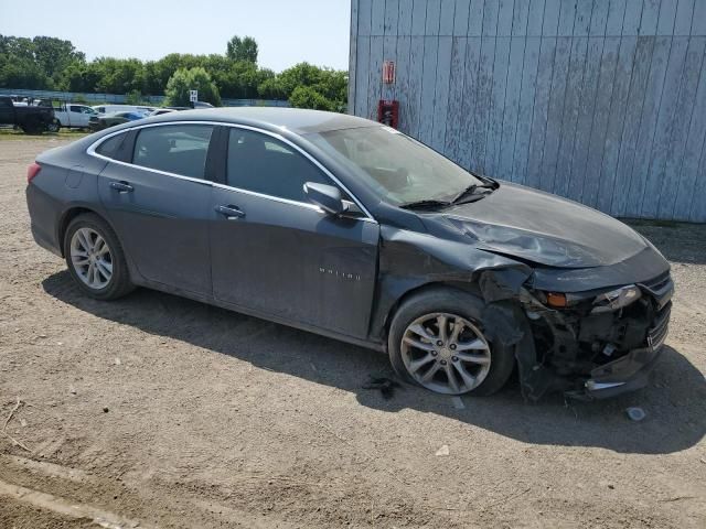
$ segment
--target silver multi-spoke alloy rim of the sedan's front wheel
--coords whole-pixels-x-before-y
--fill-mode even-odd
[[[488,376],[491,352],[483,333],[457,314],[426,314],[411,322],[402,338],[407,373],[439,393],[460,395]]]

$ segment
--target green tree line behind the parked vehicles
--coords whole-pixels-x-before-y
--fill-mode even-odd
[[[224,55],[171,53],[158,61],[86,61],[71,41],[0,35],[0,87],[127,94],[132,100],[167,94],[172,105],[183,105],[185,84],[195,83],[192,88],[200,90],[199,98],[214,105],[222,97],[263,98],[289,100],[296,107],[345,109],[346,72],[300,63],[275,73],[258,66],[257,54],[254,39],[236,35]]]

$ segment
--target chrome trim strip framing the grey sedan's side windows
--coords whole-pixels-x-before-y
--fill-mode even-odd
[[[174,179],[185,180],[185,181],[189,181],[189,182],[206,184],[206,185],[211,185],[213,187],[218,187],[218,188],[223,188],[223,190],[236,191],[238,193],[245,193],[245,194],[248,194],[248,195],[252,195],[252,196],[258,196],[260,198],[267,198],[267,199],[275,201],[275,202],[280,202],[280,203],[284,203],[284,204],[301,206],[301,207],[306,207],[308,209],[314,209],[314,210],[323,213],[323,209],[321,209],[319,206],[315,206],[313,204],[309,204],[307,202],[291,201],[289,198],[282,198],[282,197],[274,196],[274,195],[266,195],[264,193],[257,193],[255,191],[243,190],[243,188],[239,188],[239,187],[233,187],[231,185],[220,184],[217,182],[212,182],[211,180],[206,180],[206,179],[194,179],[192,176],[183,176],[181,174],[170,173],[168,171],[160,171],[159,169],[146,168],[146,166],[142,166],[142,165],[137,165],[135,163],[122,162],[120,160],[115,160],[113,158],[104,156],[103,154],[98,154],[96,152],[96,149],[104,141],[107,141],[108,139],[110,139],[110,138],[113,138],[115,136],[127,134],[128,132],[130,132],[132,130],[146,129],[146,128],[149,128],[149,127],[164,127],[164,126],[170,126],[170,125],[211,125],[213,127],[223,126],[223,127],[231,127],[231,128],[235,128],[235,129],[252,130],[254,132],[259,132],[261,134],[269,136],[270,138],[275,138],[276,140],[279,140],[282,143],[291,147],[297,152],[302,154],[307,160],[309,160],[311,163],[313,163],[321,172],[323,172],[323,174],[325,174],[338,186],[340,186],[345,193],[347,193],[347,195],[351,198],[353,198],[353,202],[355,202],[355,204],[365,214],[365,217],[346,217],[346,218],[355,218],[357,220],[363,220],[363,222],[367,222],[367,223],[377,224],[377,220],[375,220],[375,217],[373,217],[373,215],[361,203],[361,201],[359,201],[357,197],[353,193],[351,193],[349,191],[349,188],[345,185],[343,185],[343,183],[339,179],[336,179],[333,175],[333,173],[331,173],[331,171],[329,171],[327,168],[324,168],[321,164],[321,162],[319,162],[315,158],[313,158],[307,151],[301,149],[296,143],[292,143],[290,140],[288,140],[287,138],[282,137],[281,134],[278,134],[276,132],[271,132],[269,130],[259,129],[257,127],[253,127],[253,126],[249,126],[249,125],[229,123],[229,122],[225,122],[225,121],[204,121],[204,120],[164,121],[164,122],[159,122],[159,123],[138,125],[138,126],[135,126],[135,127],[128,127],[126,129],[118,130],[116,132],[111,132],[109,134],[104,136],[103,138],[99,138],[98,140],[94,141],[90,145],[88,145],[88,149],[86,149],[86,154],[88,154],[90,156],[94,156],[94,158],[98,158],[100,160],[105,160],[107,162],[113,162],[113,163],[117,163],[119,165],[125,165],[125,166],[128,166],[128,168],[135,168],[135,169],[140,169],[140,170],[143,170],[143,171],[150,171],[152,173],[162,174],[164,176],[171,176],[171,177],[174,177]]]

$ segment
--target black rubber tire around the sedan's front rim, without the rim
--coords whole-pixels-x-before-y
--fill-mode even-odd
[[[489,346],[490,370],[484,375],[484,379],[473,389],[467,391],[440,391],[450,395],[471,395],[471,396],[489,396],[499,391],[512,375],[515,358],[512,347],[503,346],[500,343],[493,343],[486,338],[483,332],[483,314],[484,303],[482,300],[452,288],[436,288],[426,290],[417,295],[406,300],[393,316],[389,333],[387,335],[387,350],[389,361],[395,373],[404,380],[424,386],[417,381],[405,365],[403,358],[403,337],[407,327],[418,319],[434,313],[456,314],[469,321],[482,334]],[[459,346],[460,348],[460,346]],[[437,361],[435,359],[432,361]],[[454,371],[456,373],[456,371]],[[429,388],[434,390],[432,388]]]

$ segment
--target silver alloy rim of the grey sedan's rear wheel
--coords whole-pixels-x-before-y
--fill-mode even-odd
[[[95,229],[78,228],[71,239],[71,262],[78,279],[94,290],[113,278],[113,255],[106,239]]]

